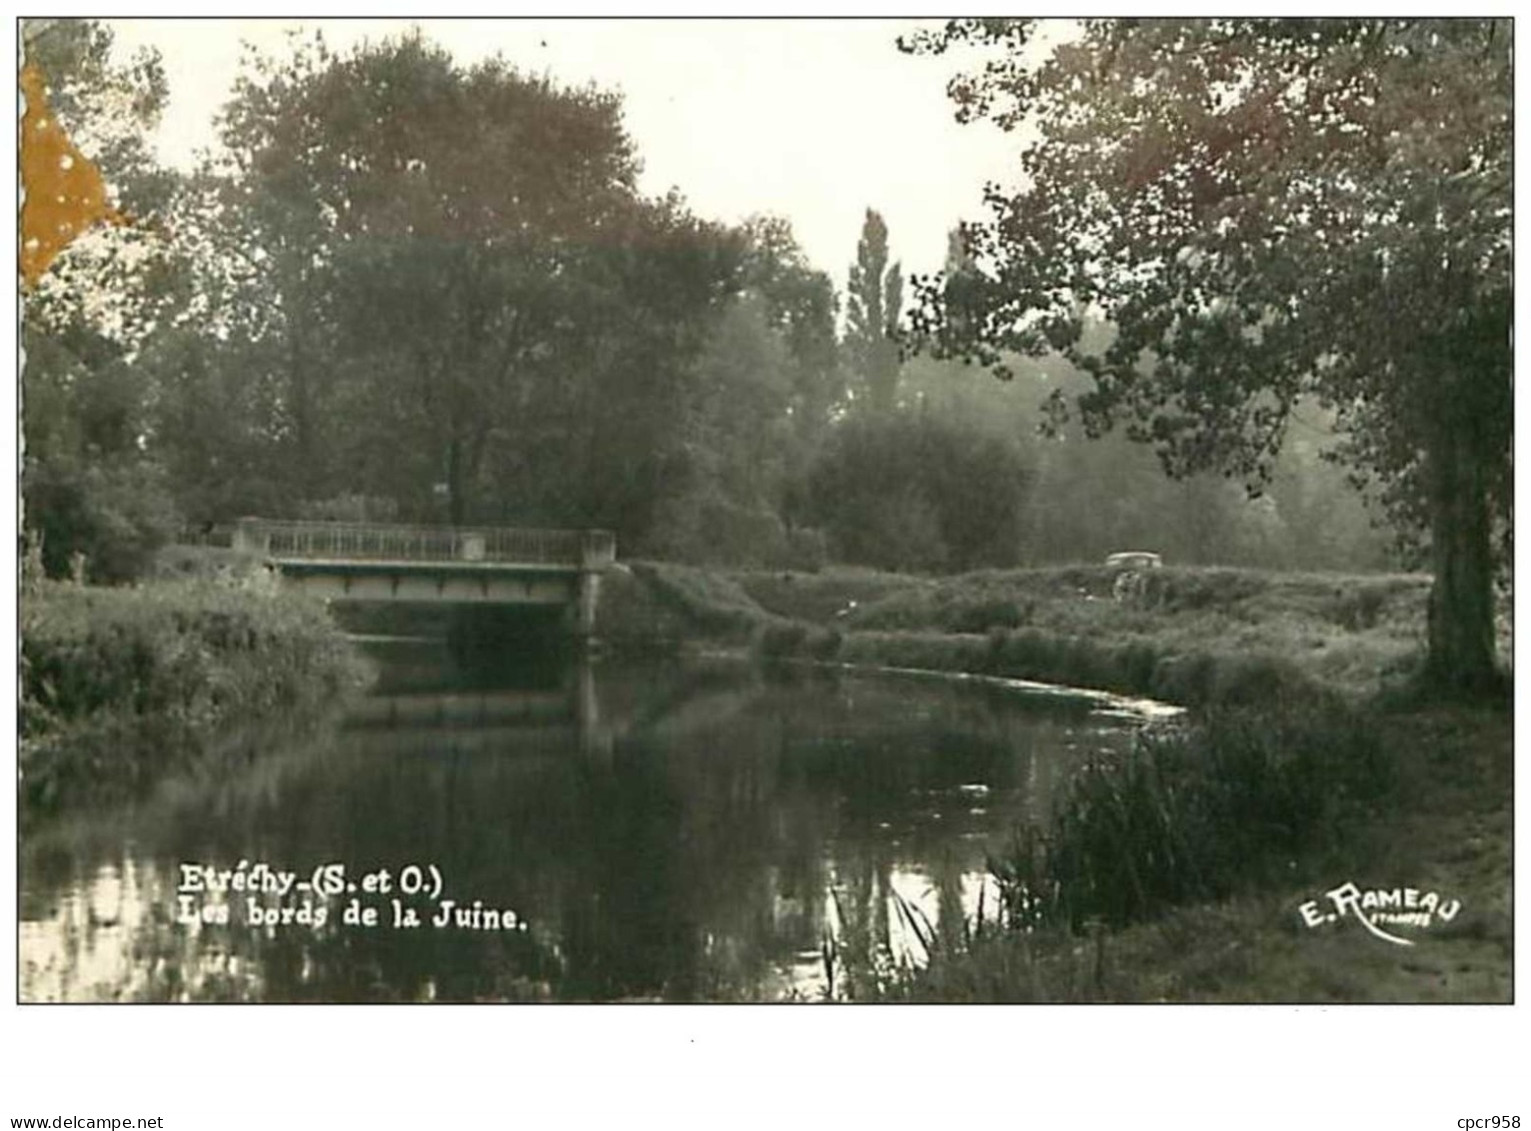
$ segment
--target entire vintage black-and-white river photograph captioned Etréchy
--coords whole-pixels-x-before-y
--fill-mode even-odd
[[[1514,20],[15,35],[23,1022],[1513,1004]]]

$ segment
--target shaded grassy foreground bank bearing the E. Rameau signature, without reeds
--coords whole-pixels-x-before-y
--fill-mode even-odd
[[[1373,716],[1373,725],[1393,777],[1386,808],[1294,860],[1289,875],[1119,931],[969,932],[937,944],[928,967],[870,986],[867,999],[1511,1001],[1513,721],[1430,709]],[[1382,920],[1401,944],[1358,921],[1343,903],[1346,885],[1363,909],[1367,892],[1439,908],[1427,926]]]

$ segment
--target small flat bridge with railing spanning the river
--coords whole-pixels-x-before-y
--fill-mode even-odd
[[[617,556],[603,530],[271,519],[236,522],[233,548],[332,600],[563,606],[582,637],[596,626],[600,574]]]

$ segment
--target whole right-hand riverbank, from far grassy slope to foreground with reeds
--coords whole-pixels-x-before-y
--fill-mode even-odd
[[[1046,923],[969,923],[932,935],[923,969],[842,966],[860,999],[1510,998],[1513,716],[1508,704],[1412,695],[1428,577],[1187,568],[1118,597],[1115,574],[1092,566],[640,575],[658,579],[649,588],[681,624],[672,635],[747,638],[762,658],[1066,683],[1193,709],[1202,738],[1084,774],[1030,849],[994,862],[1012,894],[1027,877],[1056,892],[1073,868],[1075,886],[1119,901],[1157,885],[1156,906],[1116,914],[1107,898]],[[1507,620],[1500,643],[1508,661]],[[1206,739],[1209,718],[1234,722]],[[1219,872],[1234,830],[1249,851],[1228,851],[1258,860]],[[1171,863],[1144,877],[1139,860]],[[1303,915],[1315,900],[1327,914],[1326,892],[1344,883],[1381,900],[1436,892],[1459,911],[1404,931],[1412,946],[1353,914]]]

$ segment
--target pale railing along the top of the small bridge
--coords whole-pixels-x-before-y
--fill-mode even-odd
[[[240,519],[234,548],[280,559],[516,562],[599,569],[614,560],[615,537],[603,530]]]

